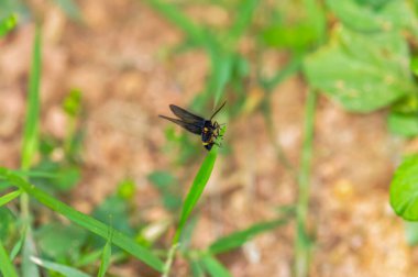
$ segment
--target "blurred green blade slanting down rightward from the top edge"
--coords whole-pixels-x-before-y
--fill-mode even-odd
[[[147,2],[185,32],[194,43],[207,43],[208,37],[204,29],[191,22],[176,5],[160,0],[147,0]]]

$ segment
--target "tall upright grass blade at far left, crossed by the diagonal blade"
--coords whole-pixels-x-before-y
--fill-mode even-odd
[[[33,43],[31,75],[29,81],[29,103],[26,108],[26,115],[23,131],[22,144],[22,160],[21,168],[28,170],[36,155],[38,145],[38,115],[40,115],[40,79],[41,79],[41,30],[36,26],[35,37]],[[31,229],[31,214],[29,208],[29,196],[21,195],[21,218],[24,230],[24,245],[22,257],[22,275],[37,277],[40,276],[37,266],[30,259],[31,256],[36,255],[35,244],[32,237]]]

